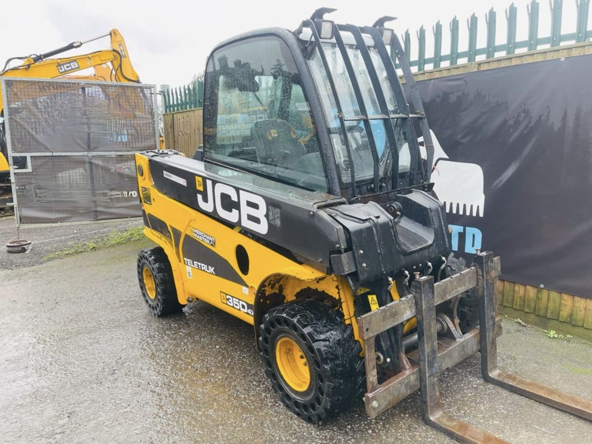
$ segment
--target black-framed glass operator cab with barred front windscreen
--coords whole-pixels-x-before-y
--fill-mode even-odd
[[[294,32],[252,31],[208,57],[204,160],[349,201],[420,186],[413,118],[383,27],[318,9]],[[398,40],[396,40],[398,43]],[[386,44],[385,44],[386,43]]]

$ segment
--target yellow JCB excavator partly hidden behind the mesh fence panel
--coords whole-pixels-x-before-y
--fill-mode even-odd
[[[95,51],[78,56],[54,58],[57,54],[81,47],[85,43],[110,37],[111,45],[108,49]],[[9,67],[14,60],[22,60],[21,65]],[[83,69],[94,68],[94,74],[72,75]],[[73,41],[66,46],[54,49],[42,54],[31,54],[25,57],[11,57],[6,61],[0,76],[54,79],[65,78],[69,80],[90,80],[107,82],[132,82],[140,83],[140,78],[131,65],[126,41],[117,29],[112,29],[107,34],[89,38],[84,41]],[[4,102],[0,91],[0,207],[2,200],[2,188],[8,188],[10,181],[10,167],[8,164],[7,144],[4,133]],[[21,165],[25,159],[12,159],[13,168],[23,168]]]

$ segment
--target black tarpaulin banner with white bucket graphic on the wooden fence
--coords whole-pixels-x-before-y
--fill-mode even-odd
[[[452,244],[502,277],[592,298],[592,56],[418,82]]]

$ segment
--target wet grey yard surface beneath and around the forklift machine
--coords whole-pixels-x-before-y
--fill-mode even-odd
[[[0,271],[0,442],[452,442],[423,423],[417,393],[375,420],[360,401],[304,423],[272,392],[252,327],[201,302],[149,314],[135,269],[148,244]],[[592,398],[590,343],[503,324],[503,368]],[[478,356],[440,387],[446,411],[511,442],[592,443],[590,422],[482,381]]]

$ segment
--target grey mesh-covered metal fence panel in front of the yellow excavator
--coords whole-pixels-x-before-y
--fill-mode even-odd
[[[155,88],[4,79],[20,224],[137,217],[131,153],[156,149]],[[30,170],[30,172],[28,172]]]

